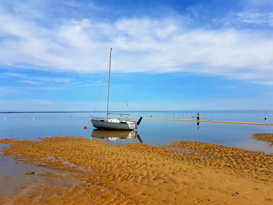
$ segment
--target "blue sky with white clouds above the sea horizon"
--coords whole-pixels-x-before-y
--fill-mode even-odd
[[[94,111],[110,48],[110,110],[116,65],[130,111],[273,109],[273,1],[0,1],[0,23],[1,112]]]

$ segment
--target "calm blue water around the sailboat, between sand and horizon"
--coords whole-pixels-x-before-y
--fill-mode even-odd
[[[199,112],[199,111],[198,111]],[[196,111],[187,112],[133,112],[132,117],[160,119],[195,119]],[[200,111],[200,120],[273,123],[273,111]],[[170,142],[191,140],[215,143],[228,147],[239,147],[252,151],[273,152],[267,142],[249,138],[252,133],[273,133],[273,126],[230,124],[212,122],[182,122],[164,120],[142,120],[137,131],[100,131],[84,126],[93,113],[1,113],[0,138],[39,140],[55,136],[82,136],[98,139],[109,144],[144,143],[168,145]],[[106,113],[95,113],[105,116]],[[73,117],[71,117],[73,116]],[[193,118],[194,116],[194,118]],[[4,119],[6,117],[6,119]],[[34,117],[34,119],[33,119]],[[267,120],[264,118],[267,117]]]

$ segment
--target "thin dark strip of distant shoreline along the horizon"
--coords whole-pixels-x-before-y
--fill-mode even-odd
[[[136,112],[218,112],[218,111],[272,111],[272,110],[161,110],[161,111],[130,111],[130,113]],[[96,113],[105,113],[106,111],[96,111]],[[128,113],[128,111],[112,111]],[[94,113],[94,111],[50,111],[50,112],[0,112],[0,113]]]

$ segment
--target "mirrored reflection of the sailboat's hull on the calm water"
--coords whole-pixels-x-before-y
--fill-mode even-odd
[[[103,130],[103,129],[94,129],[91,134],[91,140],[104,140],[104,141],[117,141],[117,140],[130,140],[138,139],[142,144],[142,140],[139,137],[139,134],[135,130]]]

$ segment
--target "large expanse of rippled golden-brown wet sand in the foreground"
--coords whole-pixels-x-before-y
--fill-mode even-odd
[[[2,149],[6,155],[56,170],[37,174],[42,181],[31,181],[19,197],[1,195],[1,204],[273,203],[273,156],[263,152],[191,141],[166,147],[73,137],[0,142],[12,145]]]

